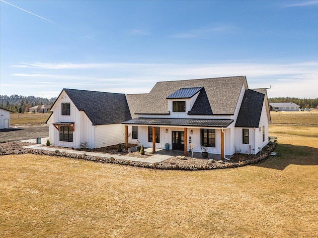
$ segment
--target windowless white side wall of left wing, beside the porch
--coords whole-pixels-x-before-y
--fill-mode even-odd
[[[95,125],[94,128],[95,148],[125,142],[125,125],[123,124]]]

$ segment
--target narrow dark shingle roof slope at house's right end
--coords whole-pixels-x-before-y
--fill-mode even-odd
[[[244,93],[236,127],[258,127],[265,94],[248,89]]]

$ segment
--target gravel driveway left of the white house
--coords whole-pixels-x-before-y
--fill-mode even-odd
[[[47,124],[21,125],[9,129],[0,129],[0,142],[35,139],[36,137],[49,137],[49,126]]]

